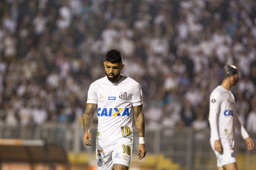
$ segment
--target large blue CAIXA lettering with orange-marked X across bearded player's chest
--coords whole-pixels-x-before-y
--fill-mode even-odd
[[[126,108],[98,108],[98,116],[129,116],[129,109]]]

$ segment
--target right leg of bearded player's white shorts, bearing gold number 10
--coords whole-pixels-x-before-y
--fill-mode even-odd
[[[113,164],[120,164],[120,165],[125,165],[126,167],[129,167],[131,163],[131,159],[132,159],[132,144],[118,143],[114,145],[114,149],[112,152]],[[121,167],[120,165],[118,167]]]

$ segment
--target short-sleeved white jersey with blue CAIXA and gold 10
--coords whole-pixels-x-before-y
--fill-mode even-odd
[[[139,83],[125,75],[112,83],[105,76],[90,85],[87,103],[98,104],[97,145],[133,143],[132,106],[142,104]]]

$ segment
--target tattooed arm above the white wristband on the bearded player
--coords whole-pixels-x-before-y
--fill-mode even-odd
[[[139,137],[145,137],[145,122],[142,105],[134,106],[133,114]]]

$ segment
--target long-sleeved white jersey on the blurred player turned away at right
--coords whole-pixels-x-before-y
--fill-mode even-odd
[[[209,123],[213,140],[235,139],[235,126],[244,139],[249,136],[236,113],[234,95],[220,85],[210,95]]]

